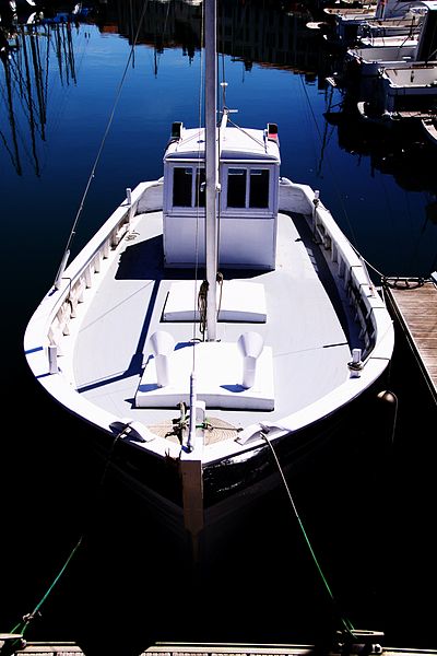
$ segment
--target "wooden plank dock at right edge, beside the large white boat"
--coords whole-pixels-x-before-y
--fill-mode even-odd
[[[435,280],[389,278],[382,289],[437,403],[437,274],[433,276]]]

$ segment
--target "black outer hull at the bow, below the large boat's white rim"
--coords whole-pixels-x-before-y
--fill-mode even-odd
[[[389,374],[385,372],[354,403],[324,417],[295,434],[286,434],[274,445],[257,447],[246,457],[228,459],[203,468],[203,527],[187,529],[181,477],[177,464],[157,461],[144,449],[120,441],[108,447],[107,435],[91,431],[93,449],[106,471],[107,482],[120,485],[140,500],[187,558],[198,564],[221,549],[239,530],[245,517],[265,507],[269,499],[283,490],[287,495],[299,481],[317,485],[317,471],[333,454],[365,445],[380,458],[388,448],[395,422],[394,408],[385,400]],[[90,443],[88,443],[90,446]],[[309,482],[309,481],[312,481]]]

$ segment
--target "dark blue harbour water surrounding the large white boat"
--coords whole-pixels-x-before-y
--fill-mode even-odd
[[[330,55],[305,30],[314,10],[296,9],[223,2],[226,103],[240,125],[277,122],[283,175],[320,189],[377,279],[428,277],[437,151],[415,132],[327,120],[342,97],[323,82]],[[0,632],[48,593],[26,637],[76,641],[88,656],[135,656],[156,640],[306,643],[338,617],[283,490],[208,546],[193,571],[140,501],[104,476],[87,429],[24,362],[26,323],[56,277],[116,98],[73,251],[126,187],[162,175],[172,122],[198,125],[200,12],[151,0],[129,60],[142,4],[109,2],[87,21],[38,26],[25,46],[20,36],[1,66]],[[436,409],[403,353],[390,383],[394,444],[376,419],[357,417],[292,492],[341,616],[385,631],[387,645],[435,648]]]

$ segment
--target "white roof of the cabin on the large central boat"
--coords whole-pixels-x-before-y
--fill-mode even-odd
[[[204,148],[203,128],[200,130],[182,128],[180,139],[173,139],[167,145],[164,161],[203,160]],[[279,143],[277,140],[268,139],[265,130],[226,127],[221,134],[221,160],[241,162],[265,160],[279,164],[281,161]]]

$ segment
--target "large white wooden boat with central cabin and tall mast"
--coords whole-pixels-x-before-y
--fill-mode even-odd
[[[276,126],[226,108],[217,126],[215,34],[208,0],[205,128],[173,124],[163,177],[66,250],[24,338],[35,378],[193,543],[277,484],[277,462],[354,440],[394,341],[318,191],[280,173]]]

